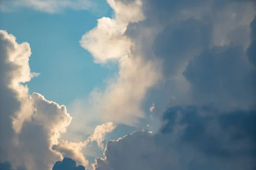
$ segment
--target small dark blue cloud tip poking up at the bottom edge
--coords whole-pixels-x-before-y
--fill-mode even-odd
[[[85,170],[84,166],[76,166],[76,161],[70,158],[64,158],[62,161],[57,161],[52,170]]]

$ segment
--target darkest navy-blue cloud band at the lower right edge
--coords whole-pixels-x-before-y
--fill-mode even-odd
[[[168,123],[161,133],[173,132],[178,113],[182,117],[178,123],[186,125],[180,145],[189,144],[206,156],[219,159],[256,158],[256,110],[223,113],[210,107],[170,108],[164,113],[163,120]]]

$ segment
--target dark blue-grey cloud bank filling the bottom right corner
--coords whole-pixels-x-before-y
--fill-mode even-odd
[[[252,170],[256,166],[255,113],[169,108],[159,133],[142,130],[108,141],[105,159],[96,159],[94,169]]]

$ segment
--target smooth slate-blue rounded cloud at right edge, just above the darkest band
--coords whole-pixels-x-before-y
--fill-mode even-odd
[[[183,72],[199,102],[253,105],[256,72],[241,46],[214,46],[192,59]]]

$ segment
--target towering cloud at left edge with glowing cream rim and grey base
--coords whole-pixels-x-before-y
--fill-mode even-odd
[[[30,47],[17,44],[16,38],[0,31],[0,160],[26,170],[48,170],[61,153],[52,150],[60,133],[71,122],[64,105],[28,93],[28,82],[38,75],[30,72]]]

